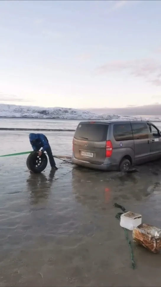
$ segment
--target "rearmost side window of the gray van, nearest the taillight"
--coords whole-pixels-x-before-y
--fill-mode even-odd
[[[133,140],[131,124],[113,125],[113,136],[116,141]]]

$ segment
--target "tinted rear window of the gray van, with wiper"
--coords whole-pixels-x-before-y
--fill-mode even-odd
[[[107,132],[107,124],[79,124],[74,137],[78,140],[104,142],[107,140]]]

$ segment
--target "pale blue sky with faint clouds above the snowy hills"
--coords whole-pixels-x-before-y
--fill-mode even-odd
[[[0,1],[0,103],[161,104],[161,0]]]

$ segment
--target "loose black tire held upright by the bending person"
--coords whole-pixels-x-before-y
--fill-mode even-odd
[[[40,173],[46,168],[48,164],[48,158],[45,153],[42,153],[41,156],[38,156],[38,152],[32,151],[27,157],[26,164],[30,171],[34,173]]]

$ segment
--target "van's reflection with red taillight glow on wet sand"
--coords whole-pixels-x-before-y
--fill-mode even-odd
[[[143,167],[140,167],[142,169]],[[137,201],[149,196],[148,187],[153,177],[147,178],[147,175],[119,172],[100,172],[90,171],[88,169],[75,168],[72,170],[72,186],[76,199],[85,204],[93,202],[90,199],[98,200],[102,204],[115,201],[125,201],[135,199]],[[87,191],[88,190],[88,191]],[[107,206],[106,206],[107,207]],[[104,208],[104,206],[103,206]]]

